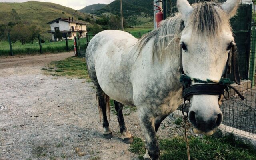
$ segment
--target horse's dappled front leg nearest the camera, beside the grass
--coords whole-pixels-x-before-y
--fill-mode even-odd
[[[139,110],[139,119],[142,132],[144,133],[146,139],[146,154],[143,158],[145,160],[158,160],[160,155],[160,149],[158,140],[156,138],[155,131],[155,116],[150,115],[147,112],[140,112]]]

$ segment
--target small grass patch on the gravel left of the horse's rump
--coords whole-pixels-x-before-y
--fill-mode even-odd
[[[52,76],[66,76],[69,78],[90,79],[85,58],[69,57],[60,61],[53,61],[47,68],[42,68],[46,74]]]

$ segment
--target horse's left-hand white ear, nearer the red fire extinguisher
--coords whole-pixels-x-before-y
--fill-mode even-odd
[[[177,7],[183,16],[183,20],[186,20],[189,14],[193,11],[193,7],[190,6],[187,0],[177,0]]]

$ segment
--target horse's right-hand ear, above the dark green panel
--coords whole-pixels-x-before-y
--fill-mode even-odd
[[[221,7],[229,16],[229,18],[233,17],[236,14],[236,10],[238,8],[240,0],[227,0],[224,2]]]

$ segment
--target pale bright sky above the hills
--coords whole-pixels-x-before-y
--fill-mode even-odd
[[[29,0],[0,0],[0,2],[27,2]],[[66,6],[69,8],[73,8],[75,10],[79,10],[84,8],[85,6],[89,6],[97,3],[109,4],[114,0],[35,0],[40,2],[52,2],[56,4],[60,4],[62,6]]]

